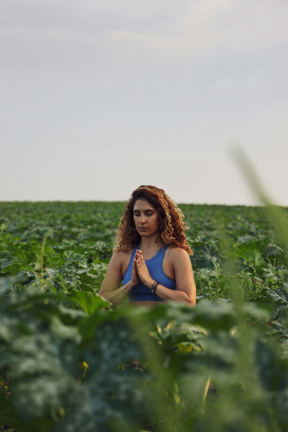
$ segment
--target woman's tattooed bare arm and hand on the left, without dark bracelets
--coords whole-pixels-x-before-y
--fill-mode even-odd
[[[134,286],[139,283],[134,260],[131,283],[128,282],[126,285],[120,286],[122,282],[121,266],[121,252],[115,252],[108,264],[107,273],[104,277],[99,292],[99,294],[104,297],[104,299],[109,300],[109,302],[112,303],[113,308],[120,305],[120,303],[122,303],[126,299],[127,295],[132,291]]]

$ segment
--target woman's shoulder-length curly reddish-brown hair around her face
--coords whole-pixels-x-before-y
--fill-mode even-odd
[[[190,246],[188,245],[185,231],[188,227],[183,222],[184,214],[177,207],[171,198],[156,186],[139,186],[132,192],[131,198],[125,204],[125,210],[122,220],[118,226],[115,235],[115,247],[113,252],[126,252],[130,248],[139,245],[141,236],[136,231],[135,222],[133,219],[134,204],[137,200],[146,200],[159,212],[159,236],[158,239],[162,243],[162,248],[165,245],[170,245],[172,248],[182,248],[192,255]]]

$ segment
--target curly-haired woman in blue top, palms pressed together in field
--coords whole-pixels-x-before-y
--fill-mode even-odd
[[[181,210],[155,186],[138,187],[126,207],[100,295],[113,307],[127,296],[130,305],[173,300],[195,306],[192,251]]]

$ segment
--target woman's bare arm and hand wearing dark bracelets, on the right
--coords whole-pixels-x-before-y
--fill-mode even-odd
[[[189,255],[184,249],[181,248],[172,248],[171,253],[177,291],[166,288],[163,285],[158,285],[156,294],[165,302],[168,300],[174,300],[175,302],[185,302],[191,306],[195,306],[196,285]],[[145,265],[141,265],[141,262],[145,261],[142,253],[140,253],[139,258],[136,262],[136,268],[139,277],[142,280],[142,283],[151,289],[152,284],[155,281],[149,275],[147,267]]]

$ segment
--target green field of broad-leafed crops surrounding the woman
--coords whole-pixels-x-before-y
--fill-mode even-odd
[[[288,210],[179,206],[196,307],[112,309],[123,203],[0,203],[0,431],[288,430]]]

